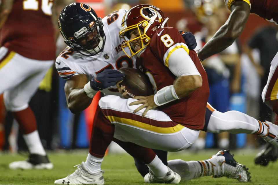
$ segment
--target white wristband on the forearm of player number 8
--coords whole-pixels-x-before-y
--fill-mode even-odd
[[[177,96],[173,85],[163,87],[157,91],[153,97],[154,103],[157,106],[164,105],[176,99],[179,99],[179,97]]]

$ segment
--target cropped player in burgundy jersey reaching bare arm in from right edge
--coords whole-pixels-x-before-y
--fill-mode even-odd
[[[198,52],[200,60],[204,60],[230,46],[242,33],[250,13],[255,13],[267,21],[278,23],[277,0],[225,0],[231,10],[228,21],[220,27],[215,35]],[[261,94],[262,100],[278,114],[278,53],[274,56],[268,81]],[[277,160],[275,146],[267,144],[255,157],[255,163],[266,166],[270,158]],[[276,155],[276,156],[273,156]]]

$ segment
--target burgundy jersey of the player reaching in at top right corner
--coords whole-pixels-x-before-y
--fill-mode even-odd
[[[235,0],[225,0],[230,9]],[[250,13],[259,15],[267,21],[278,23],[278,1],[277,0],[242,0],[250,5]]]

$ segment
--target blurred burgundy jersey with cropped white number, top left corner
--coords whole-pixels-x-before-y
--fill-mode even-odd
[[[54,60],[53,1],[14,0],[12,12],[0,30],[0,45],[30,59]]]

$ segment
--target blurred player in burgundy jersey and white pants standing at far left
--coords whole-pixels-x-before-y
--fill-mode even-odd
[[[1,3],[0,94],[4,93],[5,107],[17,120],[30,152],[28,160],[10,163],[11,169],[53,168],[28,103],[54,63],[58,35],[52,23],[52,16],[57,19],[54,2],[6,0]]]

